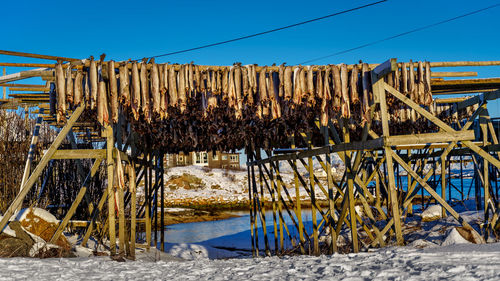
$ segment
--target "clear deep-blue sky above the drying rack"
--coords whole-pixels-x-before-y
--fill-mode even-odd
[[[3,1],[0,49],[76,58],[106,53],[107,59],[136,59],[252,34],[370,2],[375,1]],[[308,25],[157,61],[297,64],[495,3],[389,0]],[[376,63],[391,57],[399,61],[500,60],[499,27],[497,7],[314,64],[356,63],[360,59]],[[0,60],[35,61],[6,56]],[[479,76],[500,77],[500,68],[480,68]],[[490,111],[500,116],[498,103],[491,104]]]

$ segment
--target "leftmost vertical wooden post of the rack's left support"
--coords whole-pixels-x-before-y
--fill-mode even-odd
[[[115,222],[115,191],[113,188],[114,160],[113,148],[114,137],[113,127],[107,125],[106,128],[106,165],[108,173],[108,226],[109,226],[109,251],[111,255],[116,255],[116,222]]]

